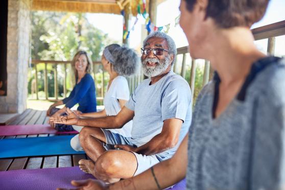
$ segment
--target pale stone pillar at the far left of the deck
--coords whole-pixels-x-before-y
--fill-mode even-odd
[[[0,113],[21,113],[27,107],[31,0],[8,1],[7,97],[0,97]]]

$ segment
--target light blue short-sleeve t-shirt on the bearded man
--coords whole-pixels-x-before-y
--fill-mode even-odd
[[[192,119],[192,96],[188,83],[172,71],[153,85],[150,82],[150,79],[141,82],[125,106],[135,113],[130,141],[137,147],[161,133],[164,120],[178,118],[183,121],[178,144],[156,154],[161,161],[174,155],[188,132]]]

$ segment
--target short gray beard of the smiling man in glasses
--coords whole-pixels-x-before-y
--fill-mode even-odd
[[[157,62],[158,64],[155,66],[148,66],[148,62]],[[167,70],[170,64],[170,55],[166,56],[161,61],[159,61],[158,58],[146,58],[145,60],[141,60],[141,63],[143,64],[142,68],[144,75],[147,77],[155,77]]]

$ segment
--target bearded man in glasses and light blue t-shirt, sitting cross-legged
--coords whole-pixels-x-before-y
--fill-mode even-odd
[[[149,79],[136,87],[117,115],[79,118],[69,112],[51,118],[54,123],[89,126],[79,138],[91,160],[80,160],[80,169],[106,182],[130,178],[171,158],[191,124],[191,90],[171,70],[176,57],[173,39],[154,32],[144,40],[141,53],[143,72]],[[131,137],[107,130],[121,128],[130,120]]]

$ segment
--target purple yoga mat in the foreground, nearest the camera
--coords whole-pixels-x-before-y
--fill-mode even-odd
[[[56,189],[74,188],[72,180],[94,177],[82,172],[79,167],[49,168],[37,170],[12,170],[0,172],[1,189]],[[174,185],[173,190],[186,189],[185,179]]]

